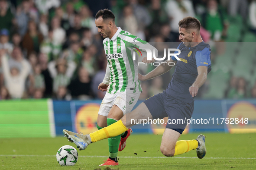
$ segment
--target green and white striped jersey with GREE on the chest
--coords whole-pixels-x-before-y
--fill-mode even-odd
[[[108,93],[142,91],[138,80],[138,55],[136,54],[136,60],[133,60],[133,47],[142,50],[141,48],[145,44],[148,43],[120,27],[111,39],[104,39],[103,46],[108,61],[107,66],[110,68]]]

